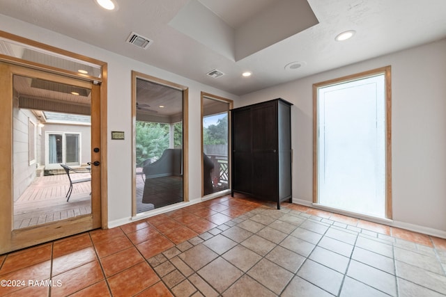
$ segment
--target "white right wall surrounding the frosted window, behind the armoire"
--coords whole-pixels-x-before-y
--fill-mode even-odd
[[[446,236],[446,40],[244,95],[243,106],[282,97],[293,103],[293,198],[312,202],[312,85],[392,66],[394,225]]]

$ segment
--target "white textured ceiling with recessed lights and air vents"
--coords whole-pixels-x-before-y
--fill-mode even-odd
[[[235,95],[446,38],[445,0],[309,0],[318,24],[237,59],[231,33],[226,36],[227,44],[219,45],[220,35],[215,42],[197,41],[170,23],[187,5],[199,2],[215,13],[212,22],[224,22],[230,28],[224,30],[237,31],[249,22],[258,25],[261,29],[252,34],[252,42],[262,42],[270,29],[294,26],[289,24],[302,19],[295,3],[303,0],[116,1],[119,9],[106,11],[93,0],[0,0],[0,13]],[[277,8],[287,6],[293,9],[283,14],[286,17],[276,15],[275,22],[268,19]],[[211,29],[203,24],[202,16],[191,17],[190,22],[208,32]],[[259,19],[268,22],[259,23]],[[334,40],[341,31],[351,29],[357,32],[351,40]],[[144,50],[126,43],[132,31],[150,38],[153,44]],[[224,54],[223,47],[227,47]],[[293,61],[305,65],[286,70],[285,65]],[[208,77],[206,73],[213,69],[225,75]],[[247,70],[252,77],[242,78],[241,73]]]

